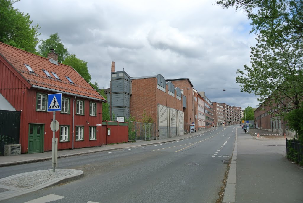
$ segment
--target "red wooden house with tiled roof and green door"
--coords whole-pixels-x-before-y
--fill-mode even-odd
[[[56,113],[58,149],[105,142],[101,124],[106,100],[75,69],[57,59],[55,52],[44,58],[0,42],[0,93],[21,111],[22,153],[52,150],[53,113],[47,111],[47,95],[52,93],[62,93],[62,111]]]

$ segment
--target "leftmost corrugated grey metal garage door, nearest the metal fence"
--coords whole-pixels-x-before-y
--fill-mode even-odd
[[[168,138],[168,108],[158,104],[159,139]]]

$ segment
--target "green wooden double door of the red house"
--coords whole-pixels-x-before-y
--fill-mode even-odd
[[[43,151],[43,124],[29,124],[28,154]]]

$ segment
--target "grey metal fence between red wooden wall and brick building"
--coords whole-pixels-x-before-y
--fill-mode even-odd
[[[128,121],[128,140],[147,141],[156,139],[156,123]]]

